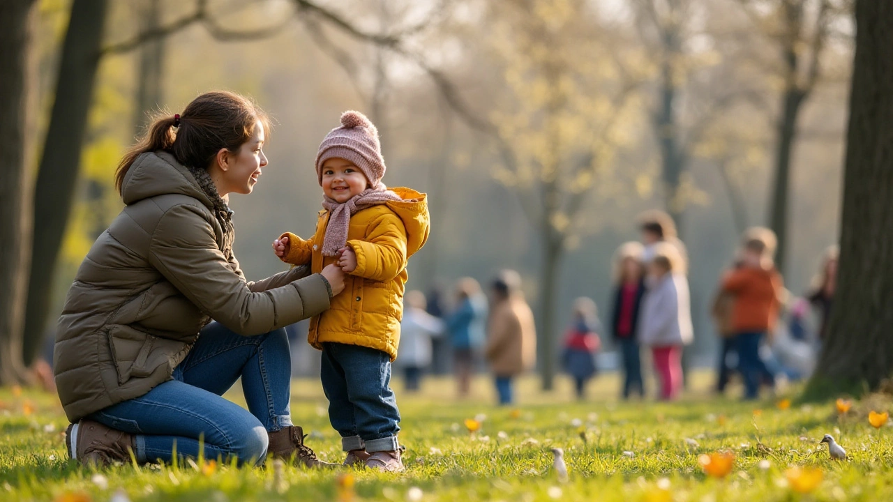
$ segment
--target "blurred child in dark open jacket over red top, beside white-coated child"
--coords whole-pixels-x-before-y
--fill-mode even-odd
[[[645,248],[638,242],[627,242],[617,248],[613,256],[613,312],[611,332],[620,346],[623,365],[622,396],[628,399],[636,393],[645,397],[642,363],[639,356],[636,327],[638,313],[645,295],[645,276],[642,273],[642,254]]]

